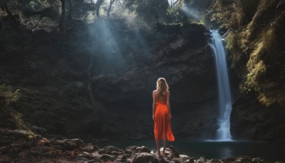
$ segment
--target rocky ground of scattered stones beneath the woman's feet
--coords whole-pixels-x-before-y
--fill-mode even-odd
[[[81,139],[46,139],[21,129],[0,129],[0,162],[264,162],[260,158],[195,159],[178,154],[175,147],[167,147],[165,157],[142,146],[120,149],[114,146],[97,147]],[[162,150],[162,149],[160,149]]]

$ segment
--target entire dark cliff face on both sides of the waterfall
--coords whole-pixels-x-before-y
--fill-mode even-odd
[[[22,117],[26,126],[52,134],[152,138],[151,93],[163,76],[170,85],[175,135],[215,137],[217,83],[204,26],[150,26],[125,18],[87,23],[71,14],[61,34],[60,1],[0,5],[0,106],[8,117]],[[207,11],[205,22],[229,30],[224,37],[231,72],[242,93],[231,115],[234,139],[284,139],[284,2],[189,5]],[[15,128],[9,120],[3,124]]]

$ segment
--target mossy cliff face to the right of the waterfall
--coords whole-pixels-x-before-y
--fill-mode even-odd
[[[242,92],[233,105],[235,139],[284,139],[284,1],[217,1],[210,19],[226,36]]]

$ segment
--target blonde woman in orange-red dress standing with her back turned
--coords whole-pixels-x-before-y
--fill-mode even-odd
[[[175,137],[170,125],[170,92],[167,82],[164,78],[159,78],[156,84],[156,90],[152,92],[152,119],[155,122],[157,155],[160,157],[160,139],[163,139],[162,156],[165,156],[166,139],[173,142]]]

